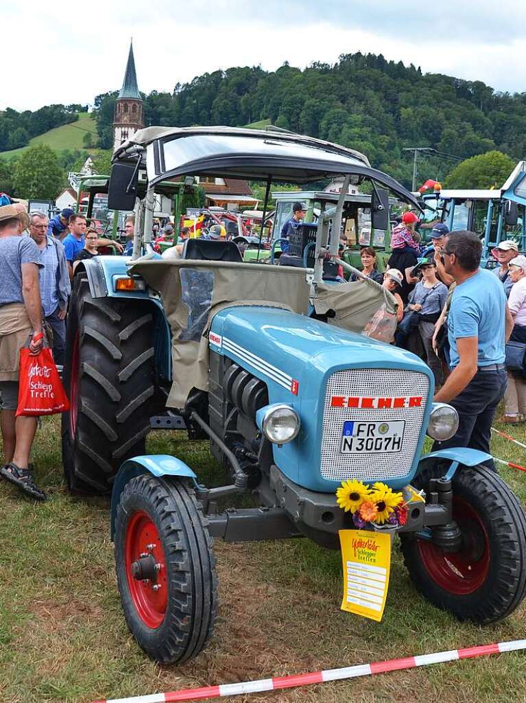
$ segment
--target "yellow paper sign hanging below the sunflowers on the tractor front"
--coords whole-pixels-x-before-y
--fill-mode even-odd
[[[389,588],[390,535],[357,529],[341,529],[339,535],[343,562],[341,610],[380,622]]]

